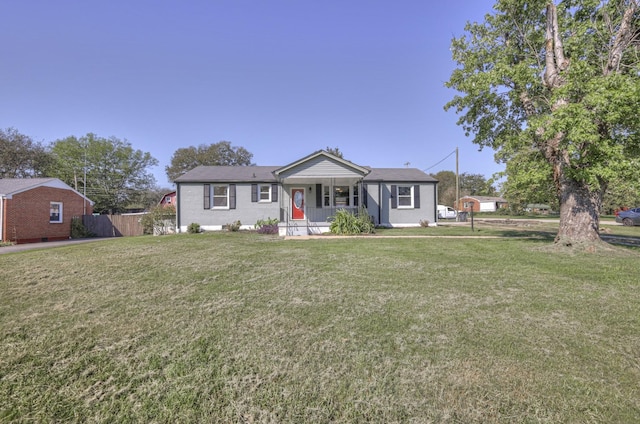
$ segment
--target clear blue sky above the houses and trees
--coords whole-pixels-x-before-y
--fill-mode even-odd
[[[338,147],[359,165],[490,177],[444,104],[451,38],[490,0],[20,0],[0,14],[0,128],[92,132],[158,159],[230,141],[257,165]],[[446,159],[445,159],[446,158]],[[438,162],[440,164],[436,165]],[[436,165],[436,166],[434,166]]]

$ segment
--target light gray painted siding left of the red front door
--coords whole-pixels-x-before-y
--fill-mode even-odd
[[[252,229],[258,220],[279,218],[280,216],[279,202],[251,201],[251,183],[235,183],[235,209],[205,209],[204,186],[205,183],[179,184],[178,226],[180,232],[186,232],[191,223],[199,224],[205,231],[216,231],[221,230],[224,225],[236,221],[241,222],[242,229]],[[280,188],[278,187],[277,190],[279,193]]]

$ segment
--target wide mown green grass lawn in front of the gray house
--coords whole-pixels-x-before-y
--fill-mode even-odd
[[[0,422],[640,422],[640,250],[476,235],[0,255]]]

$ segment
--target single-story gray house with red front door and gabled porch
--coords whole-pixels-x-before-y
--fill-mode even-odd
[[[319,150],[285,166],[199,166],[175,180],[179,232],[278,219],[280,235],[329,231],[338,209],[367,211],[376,225],[437,222],[437,183],[415,168],[369,168]]]

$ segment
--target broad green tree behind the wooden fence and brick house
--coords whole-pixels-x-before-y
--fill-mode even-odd
[[[55,162],[50,175],[86,192],[97,213],[121,212],[141,193],[155,187],[149,168],[158,161],[126,140],[91,133],[70,136],[55,141],[51,152]]]

